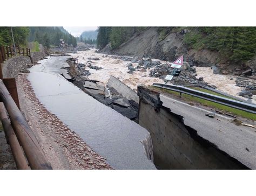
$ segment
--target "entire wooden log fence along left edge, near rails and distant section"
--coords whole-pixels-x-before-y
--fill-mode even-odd
[[[51,170],[35,134],[19,110],[15,78],[3,78],[2,62],[16,55],[30,57],[30,49],[16,47],[15,54],[13,46],[0,46],[0,52],[0,120],[17,169]]]

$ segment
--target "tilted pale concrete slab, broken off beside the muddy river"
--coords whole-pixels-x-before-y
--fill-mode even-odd
[[[128,100],[134,100],[139,103],[139,96],[136,94],[136,92],[114,76],[110,76],[107,86],[116,89],[118,93],[122,94]]]

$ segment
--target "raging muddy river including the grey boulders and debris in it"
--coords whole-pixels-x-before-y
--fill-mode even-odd
[[[143,63],[141,62],[142,60],[136,60],[132,57],[106,55],[97,53],[96,50],[78,51],[69,53],[69,55],[78,59],[84,70],[89,71],[87,76],[90,80],[98,80],[99,84],[103,86],[107,84],[112,75],[136,91],[138,85],[151,86],[154,82],[165,83],[163,79],[166,74],[172,72],[170,62],[159,59],[148,60],[156,65],[143,66],[147,62],[145,59]],[[238,76],[214,74],[211,67],[188,67],[189,65],[187,62],[184,63],[183,71],[181,71],[179,77],[172,80],[174,85],[187,85],[190,83],[208,85],[224,93],[244,100],[250,99],[252,103],[256,103],[256,95],[252,90],[251,97],[240,96],[240,93],[246,88],[241,85],[237,86],[236,80]],[[255,88],[253,82],[249,82],[248,86],[252,89]]]

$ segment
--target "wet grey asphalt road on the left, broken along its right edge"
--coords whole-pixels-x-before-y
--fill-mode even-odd
[[[30,68],[28,79],[41,103],[113,169],[156,169],[141,142],[149,132],[60,76],[66,58],[50,57]]]

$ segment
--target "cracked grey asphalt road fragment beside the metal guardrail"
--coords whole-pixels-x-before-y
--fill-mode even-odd
[[[235,125],[232,117],[215,114],[214,118],[205,114],[212,113],[190,104],[174,100],[160,94],[163,106],[170,108],[175,114],[184,117],[184,123],[197,130],[198,135],[218,146],[242,164],[256,169],[256,129],[245,125]]]

